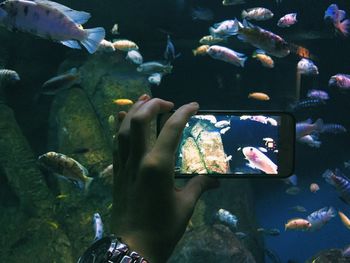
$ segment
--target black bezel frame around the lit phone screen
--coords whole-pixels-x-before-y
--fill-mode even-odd
[[[168,113],[170,117],[174,111]],[[281,125],[279,131],[279,153],[278,153],[278,174],[183,174],[176,173],[175,178],[192,178],[198,175],[207,175],[215,178],[288,178],[294,173],[295,168],[295,124],[296,120],[293,114],[285,111],[268,111],[268,110],[199,110],[195,115],[269,115],[281,116]],[[161,114],[157,119],[157,136],[159,135],[163,124],[167,120],[165,115]]]

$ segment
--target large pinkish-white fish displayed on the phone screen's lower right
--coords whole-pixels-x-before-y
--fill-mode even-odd
[[[259,169],[266,174],[277,174],[277,165],[274,164],[265,154],[257,148],[248,146],[242,149],[245,159],[248,160],[247,166],[253,169]]]

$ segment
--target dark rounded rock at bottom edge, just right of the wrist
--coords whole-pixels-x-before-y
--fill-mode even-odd
[[[169,263],[255,263],[252,254],[223,225],[203,226],[185,233]]]

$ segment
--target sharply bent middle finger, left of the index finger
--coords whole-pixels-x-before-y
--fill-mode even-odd
[[[130,121],[130,159],[132,162],[138,163],[147,150],[150,122],[158,114],[169,112],[173,107],[172,102],[156,98],[147,101],[132,116]]]

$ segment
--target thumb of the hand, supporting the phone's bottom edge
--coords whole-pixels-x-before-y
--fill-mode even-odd
[[[180,196],[184,201],[185,207],[194,208],[200,196],[209,189],[219,187],[220,182],[217,178],[212,178],[206,175],[198,175],[193,177],[187,185],[181,190]]]

